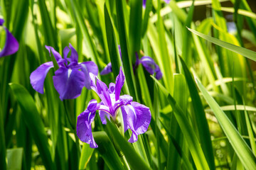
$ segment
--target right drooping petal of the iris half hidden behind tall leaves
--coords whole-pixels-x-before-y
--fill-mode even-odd
[[[161,70],[151,57],[144,56],[141,58],[140,62],[142,63],[146,71],[149,72],[149,74],[156,73],[156,79],[161,79],[162,77]]]

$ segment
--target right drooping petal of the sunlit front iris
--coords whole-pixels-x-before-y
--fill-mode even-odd
[[[146,132],[147,128],[149,128],[151,113],[148,107],[137,102],[131,102],[131,105],[122,107],[124,128],[126,125],[127,128],[132,130],[132,136],[128,142],[136,142],[138,135]]]

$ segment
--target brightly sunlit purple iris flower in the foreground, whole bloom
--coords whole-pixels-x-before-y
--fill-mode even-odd
[[[77,135],[82,142],[86,142],[92,148],[96,148],[97,144],[92,137],[92,121],[95,118],[96,111],[99,111],[100,120],[103,124],[107,123],[106,117],[116,120],[119,108],[122,110],[122,118],[124,121],[124,132],[128,129],[132,130],[132,136],[129,142],[136,142],[138,135],[146,132],[149,128],[151,113],[149,108],[132,101],[132,96],[120,96],[122,86],[124,85],[124,73],[120,67],[116,82],[107,85],[97,79],[95,75],[90,74],[91,89],[97,93],[101,102],[97,103],[92,99],[87,106],[87,109],[78,115]],[[96,82],[95,82],[96,81]]]

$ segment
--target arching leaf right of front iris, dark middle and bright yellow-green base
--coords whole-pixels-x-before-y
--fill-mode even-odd
[[[187,116],[183,113],[182,109],[176,103],[175,99],[169,94],[169,92],[164,88],[163,85],[159,83],[154,77],[152,77],[156,84],[159,86],[159,89],[164,93],[169,104],[174,110],[175,118],[178,122],[178,125],[181,128],[181,132],[185,136],[186,142],[188,144],[188,148],[191,152],[193,157],[193,161],[196,164],[197,169],[209,169],[209,166],[206,162],[206,157],[203,154],[203,150],[200,147],[200,143],[198,142],[198,138],[196,137],[196,133],[194,132],[193,128],[189,124]]]

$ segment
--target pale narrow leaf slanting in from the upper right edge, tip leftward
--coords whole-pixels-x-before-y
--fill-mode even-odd
[[[190,30],[192,33],[200,36],[201,38],[203,39],[206,39],[210,42],[213,42],[215,45],[219,45],[220,47],[224,47],[230,51],[233,51],[233,52],[236,52],[242,56],[245,56],[247,58],[249,58],[250,60],[254,60],[256,61],[256,52],[252,51],[252,50],[248,50],[244,47],[239,47],[237,45],[233,45],[233,44],[230,44],[228,42],[225,42],[225,41],[222,41],[222,40],[218,40],[217,38],[213,38],[213,37],[210,37],[209,35],[205,35],[203,33],[199,33],[198,31],[196,30],[193,30],[191,28],[188,28],[188,30]]]

